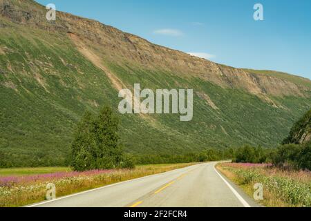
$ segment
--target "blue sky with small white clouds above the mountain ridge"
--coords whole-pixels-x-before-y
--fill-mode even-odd
[[[310,0],[37,0],[238,68],[311,79]],[[263,5],[264,21],[253,19]]]

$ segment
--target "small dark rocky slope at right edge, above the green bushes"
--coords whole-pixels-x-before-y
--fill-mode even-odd
[[[284,144],[306,144],[311,142],[311,110],[296,122]]]

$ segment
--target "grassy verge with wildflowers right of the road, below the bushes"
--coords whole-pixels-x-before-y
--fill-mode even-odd
[[[217,169],[253,198],[254,184],[263,184],[263,200],[270,207],[311,206],[310,171],[283,171],[266,164],[218,164]]]

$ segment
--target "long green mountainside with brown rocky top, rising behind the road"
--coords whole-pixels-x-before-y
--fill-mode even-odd
[[[238,69],[30,0],[0,0],[0,165],[64,164],[84,111],[117,113],[121,88],[194,89],[194,118],[119,115],[129,153],[272,147],[311,108],[311,81]]]

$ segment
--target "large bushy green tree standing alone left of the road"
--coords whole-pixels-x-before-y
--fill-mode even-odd
[[[86,171],[120,166],[124,157],[117,128],[118,119],[111,108],[102,108],[97,116],[86,112],[77,125],[71,146],[73,169]]]

